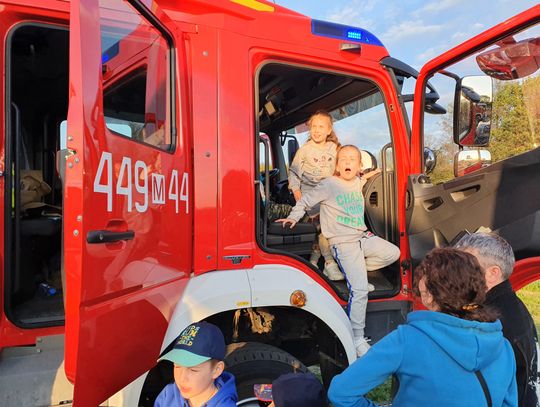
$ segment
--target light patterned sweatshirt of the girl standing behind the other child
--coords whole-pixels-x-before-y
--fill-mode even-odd
[[[315,188],[322,179],[332,176],[336,168],[336,154],[335,143],[326,142],[321,148],[309,140],[296,152],[289,168],[289,189],[304,193]]]

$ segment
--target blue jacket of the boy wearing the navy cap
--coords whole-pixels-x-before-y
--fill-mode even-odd
[[[206,407],[236,407],[236,385],[234,376],[228,372],[223,372],[219,376],[215,385],[218,392],[206,403]],[[154,407],[188,407],[188,402],[180,394],[176,383],[171,383],[159,393]]]

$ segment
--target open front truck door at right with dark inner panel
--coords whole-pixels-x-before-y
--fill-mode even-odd
[[[539,22],[535,6],[422,68],[406,204],[413,264],[463,233],[491,230],[514,248],[514,288],[540,277]],[[436,101],[438,115],[425,113],[428,80],[449,95]]]

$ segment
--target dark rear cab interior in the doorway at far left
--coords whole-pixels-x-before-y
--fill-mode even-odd
[[[7,41],[4,306],[23,327],[64,322],[57,160],[68,107],[68,39],[67,29],[32,23],[15,27]]]

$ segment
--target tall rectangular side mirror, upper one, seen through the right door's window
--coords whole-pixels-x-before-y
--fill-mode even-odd
[[[454,142],[465,147],[489,144],[492,80],[488,76],[466,76],[456,86]]]

